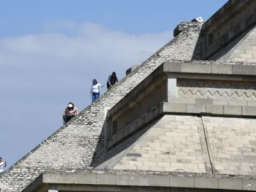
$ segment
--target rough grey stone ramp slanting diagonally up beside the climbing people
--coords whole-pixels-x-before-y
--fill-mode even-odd
[[[120,83],[103,93],[76,118],[54,132],[0,176],[1,191],[22,191],[40,173],[55,170],[84,170],[106,153],[104,125],[108,109],[129,93],[161,63],[191,60],[200,29],[182,31],[162,49],[142,63]],[[105,128],[106,129],[106,128]],[[67,163],[68,162],[68,163]]]

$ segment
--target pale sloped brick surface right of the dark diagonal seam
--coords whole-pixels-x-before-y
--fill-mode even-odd
[[[203,117],[217,173],[255,175],[256,120],[254,118]]]

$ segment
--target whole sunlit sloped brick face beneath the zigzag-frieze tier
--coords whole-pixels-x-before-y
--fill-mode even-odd
[[[256,174],[256,120],[165,115],[109,151],[114,170]]]

